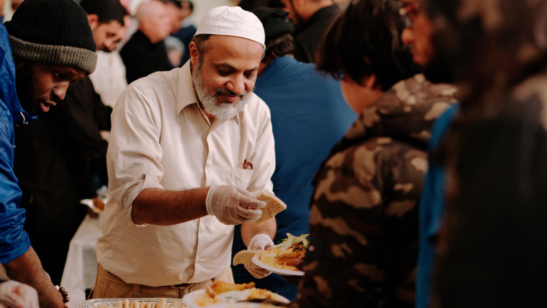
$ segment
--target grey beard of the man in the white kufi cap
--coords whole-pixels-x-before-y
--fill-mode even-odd
[[[251,100],[251,94],[247,91],[240,95],[240,100],[235,103],[222,102],[218,103],[217,90],[208,90],[205,86],[205,79],[201,68],[203,66],[203,58],[197,61],[196,69],[192,74],[192,80],[194,82],[194,89],[196,90],[197,99],[205,108],[208,114],[211,114],[216,119],[228,120],[236,116],[236,114],[243,111],[245,105]],[[243,96],[243,98],[241,98]]]

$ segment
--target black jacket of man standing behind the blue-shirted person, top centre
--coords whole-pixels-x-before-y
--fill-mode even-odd
[[[315,12],[294,36],[294,58],[301,62],[315,61],[315,52],[340,9],[333,4]]]

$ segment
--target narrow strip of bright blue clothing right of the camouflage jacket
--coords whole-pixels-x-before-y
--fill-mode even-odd
[[[445,172],[432,157],[449,131],[458,109],[458,104],[453,104],[446,109],[435,121],[431,130],[428,146],[429,169],[420,199],[420,251],[416,277],[416,308],[430,306],[431,275],[435,261],[435,247],[432,239],[439,233],[445,212]]]

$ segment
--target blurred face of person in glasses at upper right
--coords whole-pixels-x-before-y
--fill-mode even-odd
[[[403,0],[399,14],[407,24],[401,33],[401,41],[409,45],[414,62],[426,66],[434,55],[431,21],[415,0]]]

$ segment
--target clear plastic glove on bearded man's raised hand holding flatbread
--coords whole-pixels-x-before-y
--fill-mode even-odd
[[[252,223],[262,216],[266,202],[253,199],[245,189],[231,185],[213,185],[205,200],[207,213],[226,225]]]

